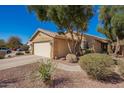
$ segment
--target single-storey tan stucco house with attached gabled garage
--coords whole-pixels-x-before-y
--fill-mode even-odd
[[[76,37],[74,37],[76,40]],[[38,29],[29,41],[32,54],[48,57],[59,58],[69,53],[68,42],[70,48],[74,47],[71,35],[60,35],[43,29]],[[94,52],[104,52],[107,49],[107,40],[84,34],[81,46],[84,48],[93,48]]]

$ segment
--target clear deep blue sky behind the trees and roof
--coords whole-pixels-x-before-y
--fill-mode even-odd
[[[98,9],[98,6],[96,6]],[[97,32],[98,13],[89,22],[88,34],[104,37]],[[34,13],[29,13],[26,6],[0,6],[0,39],[7,40],[18,36],[26,43],[37,28],[53,32],[57,27],[52,22],[40,22]]]

